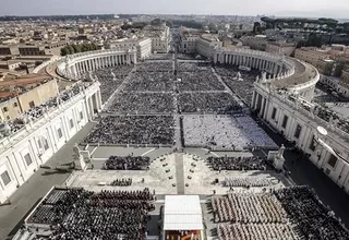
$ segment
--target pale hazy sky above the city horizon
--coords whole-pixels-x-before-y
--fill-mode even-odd
[[[182,13],[346,17],[348,0],[0,0],[0,15]]]

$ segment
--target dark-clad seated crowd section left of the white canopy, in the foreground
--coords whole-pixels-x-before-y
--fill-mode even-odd
[[[48,225],[51,239],[145,240],[153,195],[143,191],[55,189],[29,216],[28,224]]]

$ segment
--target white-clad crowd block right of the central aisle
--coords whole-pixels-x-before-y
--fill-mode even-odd
[[[217,146],[231,149],[277,147],[248,116],[184,116],[182,122],[185,146]]]

